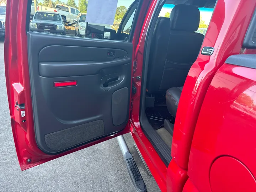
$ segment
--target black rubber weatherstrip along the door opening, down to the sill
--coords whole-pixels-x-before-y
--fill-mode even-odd
[[[146,80],[148,74],[148,62],[149,62],[149,52],[150,52],[150,44],[153,36],[154,26],[157,20],[157,16],[161,10],[160,0],[157,2],[158,6],[155,7],[153,17],[150,21],[149,31],[147,32],[146,40],[145,40],[145,49],[144,49],[144,58],[143,58],[143,72],[142,72],[142,88],[141,88],[141,97],[140,97],[140,124],[146,137],[150,140],[151,144],[154,146],[156,152],[159,154],[160,158],[164,162],[166,166],[169,165],[172,157],[171,157],[171,149],[169,146],[162,140],[160,135],[156,132],[156,130],[149,124],[148,119],[145,114],[145,96],[146,96]]]

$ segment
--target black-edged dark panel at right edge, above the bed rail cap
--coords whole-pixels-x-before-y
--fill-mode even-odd
[[[249,49],[256,49],[256,10],[252,15],[250,25],[245,34],[243,47]]]

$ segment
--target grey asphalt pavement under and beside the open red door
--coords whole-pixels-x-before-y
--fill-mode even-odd
[[[21,171],[11,131],[4,71],[4,42],[0,41],[0,191],[6,192],[133,192],[116,138]],[[158,192],[135,149],[124,135],[149,192]]]

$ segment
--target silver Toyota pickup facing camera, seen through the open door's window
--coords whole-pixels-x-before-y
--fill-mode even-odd
[[[65,19],[58,12],[37,11],[30,22],[30,31],[66,34]]]

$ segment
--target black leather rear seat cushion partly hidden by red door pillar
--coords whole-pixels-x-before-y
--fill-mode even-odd
[[[172,87],[166,91],[165,97],[167,109],[174,117],[176,117],[182,89],[183,87]]]

